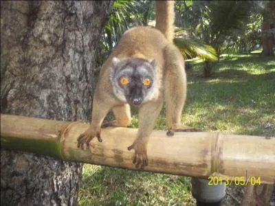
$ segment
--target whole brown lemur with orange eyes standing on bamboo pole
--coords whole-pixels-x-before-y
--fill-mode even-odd
[[[128,150],[135,150],[136,167],[148,165],[147,144],[157,115],[166,106],[170,130],[184,131],[181,112],[186,100],[184,59],[173,44],[174,1],[155,1],[156,26],[127,30],[100,70],[94,94],[91,124],[78,137],[78,147],[94,137],[110,109],[115,120],[105,126],[126,127],[131,122],[130,105],[138,107],[137,137]],[[163,100],[164,99],[164,100]]]

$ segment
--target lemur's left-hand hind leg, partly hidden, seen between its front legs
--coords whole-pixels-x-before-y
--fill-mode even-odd
[[[115,120],[111,122],[105,122],[102,127],[107,126],[121,126],[126,127],[131,123],[131,109],[129,104],[123,104],[122,106],[115,106],[112,108]]]

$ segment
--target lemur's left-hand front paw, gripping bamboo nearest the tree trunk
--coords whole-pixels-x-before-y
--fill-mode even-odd
[[[98,141],[101,142],[102,139],[100,137],[100,130],[96,131],[94,128],[89,127],[85,133],[79,135],[78,137],[78,148],[83,150],[84,144],[86,144],[86,148],[89,149],[91,139],[94,137],[98,137]]]

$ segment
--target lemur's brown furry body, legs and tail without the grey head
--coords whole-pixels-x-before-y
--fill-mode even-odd
[[[143,58],[156,61],[156,89],[149,101],[139,108],[139,127],[137,137],[129,150],[135,150],[133,163],[137,167],[148,165],[147,143],[152,133],[155,119],[166,106],[166,124],[172,130],[186,130],[181,124],[181,112],[186,100],[186,73],[184,59],[173,44],[174,1],[155,1],[156,28],[133,27],[126,31],[115,50],[109,56],[102,69],[94,94],[91,126],[78,137],[78,147],[83,148],[94,137],[100,139],[100,127],[110,109],[115,120],[109,126],[126,127],[131,122],[130,106],[113,93],[110,81],[110,68],[114,58]],[[163,101],[164,100],[164,101]]]

